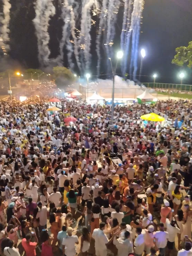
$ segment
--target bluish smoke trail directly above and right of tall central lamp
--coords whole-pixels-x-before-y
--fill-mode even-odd
[[[123,52],[124,52],[124,58],[121,61],[121,72],[125,75],[127,72],[127,61],[128,61],[128,54],[129,54],[129,46],[130,46],[130,36],[132,32],[132,26],[131,26],[131,10],[132,10],[132,2],[133,0],[129,0],[128,7],[127,7],[127,26],[126,26],[126,33],[124,36],[124,46],[123,46]]]

